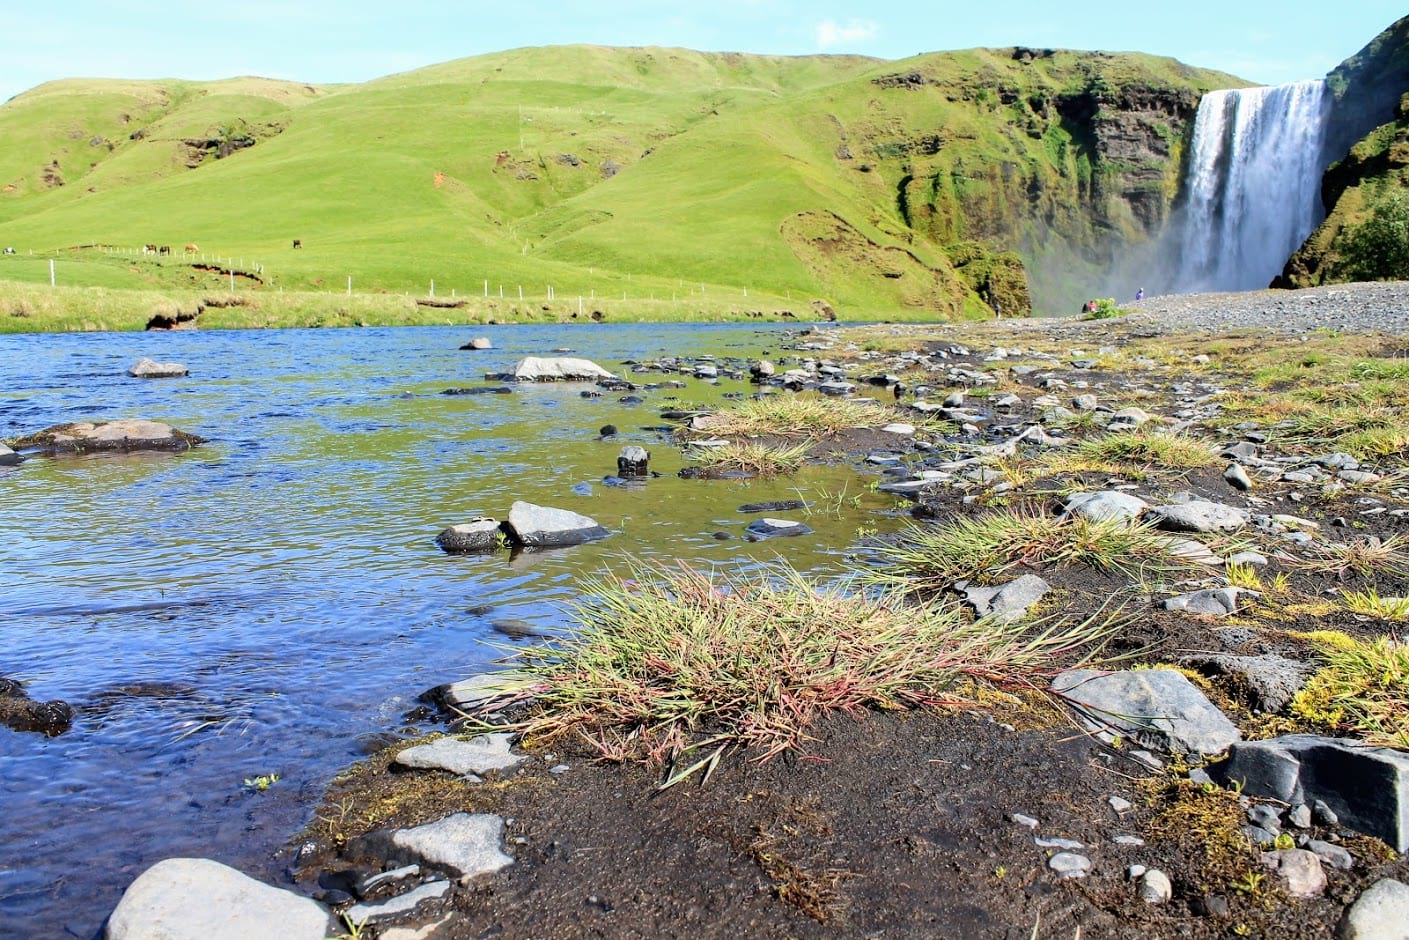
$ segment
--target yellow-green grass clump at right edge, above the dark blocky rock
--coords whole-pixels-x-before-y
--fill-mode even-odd
[[[1409,647],[1391,637],[1313,643],[1326,665],[1292,699],[1292,713],[1371,744],[1409,748]]]

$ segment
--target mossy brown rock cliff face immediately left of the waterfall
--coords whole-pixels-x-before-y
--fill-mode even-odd
[[[916,235],[982,242],[1027,262],[1033,293],[1065,309],[1089,297],[1130,245],[1164,228],[1199,97],[1229,76],[1127,56],[1010,49],[945,80],[875,79],[888,99],[921,96],[976,113],[875,141],[876,172]],[[1154,62],[1160,62],[1155,66]]]

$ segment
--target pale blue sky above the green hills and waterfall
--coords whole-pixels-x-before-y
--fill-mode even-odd
[[[77,76],[362,82],[566,42],[886,59],[978,45],[1138,49],[1275,85],[1320,78],[1406,13],[1403,0],[31,0],[6,7],[0,101]]]

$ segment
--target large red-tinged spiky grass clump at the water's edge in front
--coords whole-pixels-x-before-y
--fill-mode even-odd
[[[537,695],[523,731],[583,734],[613,760],[714,748],[676,778],[713,769],[733,746],[775,757],[834,712],[958,705],[965,681],[1045,688],[1110,633],[1095,620],[1036,633],[968,623],[952,609],[817,589],[785,567],[719,579],[652,568],[590,583],[576,614],[562,644],[517,654]]]

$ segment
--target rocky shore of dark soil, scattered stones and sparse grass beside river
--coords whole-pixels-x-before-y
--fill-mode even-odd
[[[354,768],[300,837],[292,877],[327,905],[307,936],[328,909],[397,940],[1403,936],[1409,754],[1386,744],[1409,729],[1355,731],[1312,693],[1337,644],[1396,655],[1399,607],[1346,599],[1409,593],[1406,333],[1409,285],[1353,285],[800,335],[759,385],[885,402],[814,454],[921,528],[1095,533],[1058,555],[1024,530],[968,569],[921,536],[868,537],[876,576],[995,623],[1109,610],[1117,658],[957,709],[836,716],[796,753],[738,751],[665,792],[586,737],[476,737],[459,716],[495,696],[442,689],[451,736]],[[1130,538],[1107,564],[1112,531]],[[920,548],[923,576],[905,568]],[[179,901],[141,888],[147,920],[113,923],[176,929]]]

